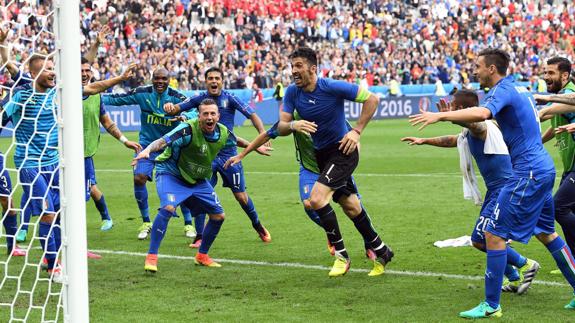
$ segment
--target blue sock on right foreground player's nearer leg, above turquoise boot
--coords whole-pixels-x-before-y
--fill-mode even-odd
[[[485,271],[485,301],[492,308],[499,306],[501,285],[507,264],[507,250],[487,250],[487,270]]]

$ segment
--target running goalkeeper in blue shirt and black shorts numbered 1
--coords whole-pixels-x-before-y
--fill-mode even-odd
[[[280,136],[294,131],[311,133],[320,176],[311,190],[310,206],[318,214],[330,243],[335,247],[336,259],[329,276],[343,276],[350,266],[335,212],[329,204],[332,198],[345,210],[376,254],[374,265],[377,268],[370,275],[381,275],[393,252],[371,225],[352,179],[359,162],[357,145],[360,134],[375,113],[379,100],[355,84],[318,78],[317,54],[311,48],[300,47],[289,58],[295,84],[286,89],[277,130]],[[345,100],[363,103],[359,120],[352,130],[346,126]],[[294,121],[295,112],[302,120]]]

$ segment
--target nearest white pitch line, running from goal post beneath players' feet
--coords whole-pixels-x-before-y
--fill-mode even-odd
[[[111,255],[123,255],[123,256],[133,256],[133,257],[146,257],[147,254],[142,252],[130,252],[130,251],[122,251],[122,250],[90,250],[95,253],[103,253],[103,254],[111,254]],[[194,260],[194,257],[191,256],[175,256],[175,255],[164,255],[159,254],[159,258],[166,258],[166,259],[179,259],[179,260]],[[215,259],[217,262],[221,263],[229,263],[229,264],[236,264],[236,265],[253,265],[253,266],[267,266],[267,267],[282,267],[282,268],[299,268],[299,269],[311,269],[311,270],[322,270],[328,271],[331,268],[326,266],[319,266],[319,265],[306,265],[297,262],[267,262],[267,261],[254,261],[254,260],[241,260],[241,259]],[[358,272],[358,273],[367,273],[369,270],[367,269],[355,269],[351,268],[351,272]],[[402,275],[402,276],[411,276],[411,277],[435,277],[435,278],[450,278],[450,279],[459,279],[459,280],[473,280],[473,281],[480,281],[483,280],[483,276],[470,276],[470,275],[456,275],[456,274],[445,274],[445,273],[433,273],[433,272],[424,272],[424,271],[404,271],[404,270],[385,270],[386,274],[391,275]],[[544,281],[544,280],[535,280],[533,284],[538,285],[545,285],[545,286],[558,286],[558,287],[567,287],[568,284],[565,283],[558,283],[558,282],[551,282],[551,281]]]

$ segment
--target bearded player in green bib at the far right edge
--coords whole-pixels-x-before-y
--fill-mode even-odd
[[[553,57],[545,66],[544,80],[549,93],[575,93],[575,84],[570,79],[571,62],[564,57]],[[555,129],[575,122],[575,112],[553,114],[553,110],[560,106],[553,104],[540,111],[541,121],[551,119],[551,127],[543,134],[543,143],[557,139],[555,145],[563,163],[561,183],[555,192],[555,220],[561,225],[569,249],[575,250],[575,140],[573,135],[562,131],[555,133]],[[575,109],[575,107],[574,107]],[[559,274],[560,271],[554,270]]]

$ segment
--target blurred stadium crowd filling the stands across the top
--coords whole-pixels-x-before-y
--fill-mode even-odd
[[[42,28],[29,3],[3,12],[21,39]],[[34,5],[46,12],[42,3]],[[575,58],[574,16],[574,6],[552,0],[93,0],[81,6],[82,49],[109,26],[95,77],[140,63],[124,88],[149,82],[160,64],[179,89],[203,86],[212,65],[226,88],[272,88],[289,83],[286,53],[304,43],[322,53],[324,76],[366,85],[473,82],[474,58],[489,46],[513,53],[511,73],[533,81],[546,57]],[[43,37],[17,46],[42,49]]]

